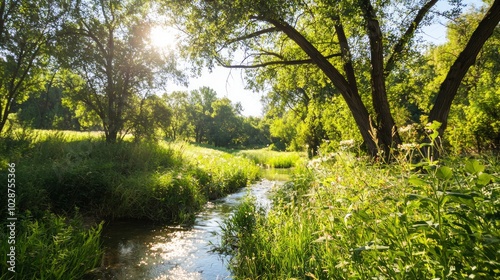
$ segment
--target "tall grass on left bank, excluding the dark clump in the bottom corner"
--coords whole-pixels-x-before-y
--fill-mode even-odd
[[[18,208],[37,218],[47,209],[78,207],[102,218],[188,222],[208,199],[246,186],[259,173],[248,159],[189,144],[108,144],[102,135],[75,132],[8,139],[2,148],[17,148],[3,150],[0,174],[16,163],[23,186]]]

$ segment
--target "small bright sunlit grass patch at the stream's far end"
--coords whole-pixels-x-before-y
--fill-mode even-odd
[[[304,162],[305,155],[298,152],[277,152],[267,149],[242,150],[236,153],[253,160],[256,164],[270,168],[290,168]]]

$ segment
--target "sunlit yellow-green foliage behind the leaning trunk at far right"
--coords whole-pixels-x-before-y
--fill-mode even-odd
[[[423,72],[420,76],[428,76],[431,80],[429,84],[434,87],[431,92],[439,91],[440,82],[446,78],[446,70],[462,51],[458,46],[471,37],[474,31],[471,27],[479,24],[483,14],[484,9],[470,10],[455,19],[447,26],[447,42],[431,48],[426,54],[426,59],[430,61],[428,64],[434,71]],[[499,49],[500,26],[497,26],[462,79],[454,98],[455,105],[448,118],[448,126],[453,129],[448,132],[446,140],[458,153],[500,147]]]

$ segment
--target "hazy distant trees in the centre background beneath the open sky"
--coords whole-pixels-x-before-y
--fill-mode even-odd
[[[194,140],[216,147],[253,147],[268,144],[259,118],[241,116],[241,104],[217,98],[209,88],[173,92],[164,99],[172,108],[172,122],[166,130],[171,139]]]

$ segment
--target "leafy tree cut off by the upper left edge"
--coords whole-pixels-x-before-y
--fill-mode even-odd
[[[0,132],[16,103],[43,87],[41,69],[65,11],[56,1],[0,3]]]

